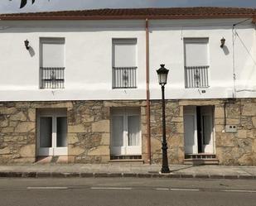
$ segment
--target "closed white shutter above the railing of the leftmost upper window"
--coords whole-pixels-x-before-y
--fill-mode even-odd
[[[65,40],[41,39],[41,67],[65,67]]]

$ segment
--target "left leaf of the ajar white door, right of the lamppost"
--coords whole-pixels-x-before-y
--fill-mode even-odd
[[[197,154],[196,106],[184,107],[185,154]]]

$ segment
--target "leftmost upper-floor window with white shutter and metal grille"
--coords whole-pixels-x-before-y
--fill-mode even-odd
[[[41,38],[41,89],[64,88],[65,39]]]

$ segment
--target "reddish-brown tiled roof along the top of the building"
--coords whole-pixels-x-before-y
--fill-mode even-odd
[[[0,20],[190,19],[256,17],[256,8],[165,7],[104,8],[62,12],[0,14]]]

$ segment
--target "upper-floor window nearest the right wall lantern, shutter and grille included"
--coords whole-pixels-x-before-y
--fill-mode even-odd
[[[208,38],[186,38],[185,47],[185,87],[209,87]]]

